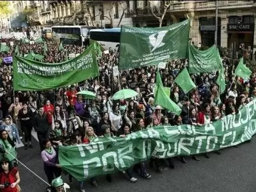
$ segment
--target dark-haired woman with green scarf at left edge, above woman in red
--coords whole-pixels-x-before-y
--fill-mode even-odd
[[[15,150],[15,143],[8,135],[8,132],[5,131],[4,129],[1,130],[1,132],[0,132],[0,145],[3,148],[3,151],[5,152],[1,156],[1,159],[3,159],[3,157],[6,157],[11,162],[11,164],[13,166],[14,160],[17,157],[17,152]]]

